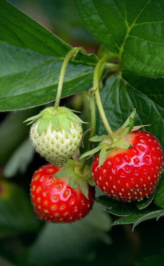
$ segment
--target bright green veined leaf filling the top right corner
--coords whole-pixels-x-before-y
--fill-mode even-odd
[[[109,51],[118,55],[122,68],[141,76],[163,76],[163,1],[74,2],[85,26]]]

